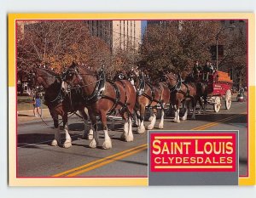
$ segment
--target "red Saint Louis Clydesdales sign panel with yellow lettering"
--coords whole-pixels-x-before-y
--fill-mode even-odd
[[[150,133],[151,172],[235,172],[235,133]]]

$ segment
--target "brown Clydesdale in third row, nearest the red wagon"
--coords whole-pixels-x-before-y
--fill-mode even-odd
[[[179,108],[180,105],[183,105],[186,108],[185,114],[182,120],[187,119],[189,102],[192,102],[193,115],[192,119],[195,119],[195,105],[199,94],[197,94],[196,84],[194,82],[184,83],[181,79],[181,76],[168,73],[165,75],[166,82],[171,91],[171,104],[175,110],[174,122],[180,122],[179,119]],[[188,102],[188,103],[187,103]]]

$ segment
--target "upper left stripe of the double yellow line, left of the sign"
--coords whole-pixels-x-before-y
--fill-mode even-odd
[[[107,156],[107,157],[104,157],[104,158],[102,158],[102,159],[100,159],[100,160],[91,161],[90,163],[84,164],[83,166],[75,167],[75,168],[70,169],[70,170],[67,170],[67,171],[65,171],[65,172],[55,174],[55,175],[53,175],[52,177],[60,177],[60,176],[66,175],[66,174],[68,174],[68,173],[72,173],[72,172],[75,172],[75,171],[79,171],[79,169],[82,169],[82,168],[84,168],[84,167],[90,167],[90,166],[92,166],[92,165],[94,165],[94,164],[96,164],[96,163],[99,163],[99,162],[102,162],[102,161],[105,161],[105,160],[109,160],[109,159],[111,159],[111,158],[113,158],[113,157],[115,157],[115,156],[120,156],[120,155],[125,154],[125,153],[130,152],[130,151],[134,151],[134,150],[141,149],[142,147],[148,147],[148,144],[142,144],[142,145],[139,145],[139,146],[137,146],[137,147],[131,148],[131,149],[129,149],[129,150],[121,151],[121,152],[116,153],[116,154],[114,154],[114,155],[112,155],[112,156]]]

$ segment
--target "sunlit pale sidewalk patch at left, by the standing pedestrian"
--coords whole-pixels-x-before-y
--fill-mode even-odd
[[[17,117],[17,121],[18,122],[27,122],[27,121],[41,121],[40,117],[35,117],[33,110],[18,110],[17,112],[18,117]],[[49,109],[43,109],[42,110],[42,118],[46,119],[46,118],[51,118],[50,114],[49,114]]]

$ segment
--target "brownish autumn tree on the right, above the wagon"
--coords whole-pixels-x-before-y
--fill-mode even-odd
[[[140,64],[155,76],[163,71],[191,69],[195,59],[204,64],[212,57],[210,47],[222,27],[219,20],[169,20],[164,27],[148,25]]]

